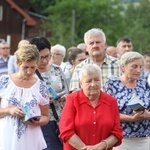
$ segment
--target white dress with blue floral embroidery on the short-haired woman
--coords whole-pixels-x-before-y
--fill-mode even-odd
[[[8,75],[0,77],[0,108],[28,106],[31,115],[41,115],[39,105],[49,103],[48,90],[43,81],[30,88],[16,86]],[[35,136],[36,135],[36,136]],[[46,143],[40,126],[25,125],[17,116],[0,118],[0,150],[42,150]]]

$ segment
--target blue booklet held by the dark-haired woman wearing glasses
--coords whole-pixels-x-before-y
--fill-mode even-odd
[[[52,87],[50,87],[50,88],[48,89],[48,91],[50,92],[50,96],[51,96],[51,98],[52,98],[53,100],[57,100],[57,99],[59,99],[60,97],[62,97],[63,95],[66,94],[65,91],[62,91],[62,92],[60,92],[60,93],[57,93]]]

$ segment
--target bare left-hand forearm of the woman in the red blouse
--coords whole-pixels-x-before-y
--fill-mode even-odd
[[[74,147],[75,149],[78,149],[78,150],[80,150],[81,148],[83,148],[84,146],[86,146],[76,134],[74,134],[74,135],[68,140],[68,143],[69,143],[72,147]]]

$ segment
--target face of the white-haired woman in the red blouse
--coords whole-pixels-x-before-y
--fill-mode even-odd
[[[98,96],[100,93],[100,76],[97,73],[84,74],[80,81],[81,88],[84,94],[89,98],[91,96]]]

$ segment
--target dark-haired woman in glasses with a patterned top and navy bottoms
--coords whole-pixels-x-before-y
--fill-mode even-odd
[[[39,50],[41,59],[38,63],[38,71],[47,84],[47,87],[53,88],[57,93],[62,91],[67,93],[67,88],[65,86],[66,84],[61,68],[55,64],[50,63],[50,42],[44,37],[34,37],[30,43],[35,44]],[[58,114],[58,117],[60,117],[65,104],[65,95],[57,100],[52,98],[50,102],[54,103],[55,110]],[[49,113],[49,123],[41,127],[47,143],[47,148],[45,150],[63,150],[62,143],[58,137],[58,134],[56,133],[57,124],[51,108],[49,109]]]

